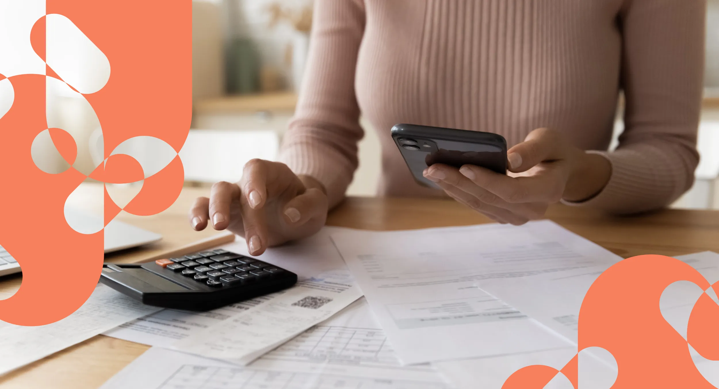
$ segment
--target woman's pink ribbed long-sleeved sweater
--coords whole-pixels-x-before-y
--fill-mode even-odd
[[[613,171],[582,205],[638,212],[692,186],[705,0],[316,0],[307,71],[280,160],[336,205],[357,169],[360,113],[382,143],[380,195],[412,179],[395,123],[490,131],[509,146],[556,128]],[[620,91],[626,130],[606,151]]]

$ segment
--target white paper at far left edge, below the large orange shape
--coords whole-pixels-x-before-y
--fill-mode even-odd
[[[83,306],[58,322],[37,327],[0,322],[0,374],[158,309],[99,284]]]

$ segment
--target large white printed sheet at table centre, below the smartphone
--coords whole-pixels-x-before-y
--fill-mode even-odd
[[[477,281],[620,261],[554,222],[332,235],[406,364],[571,345]],[[431,342],[427,342],[431,339]]]

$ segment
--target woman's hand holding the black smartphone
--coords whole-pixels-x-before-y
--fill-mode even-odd
[[[587,154],[557,131],[539,128],[507,151],[509,171],[498,174],[464,165],[455,169],[434,164],[424,177],[450,197],[501,223],[521,225],[544,216],[559,200],[582,201],[599,193],[609,181],[611,164]]]

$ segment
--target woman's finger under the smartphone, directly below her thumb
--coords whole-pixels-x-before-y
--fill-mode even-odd
[[[559,202],[564,182],[559,167],[544,169],[531,177],[509,177],[489,169],[464,165],[459,172],[478,186],[496,194],[505,202]]]

